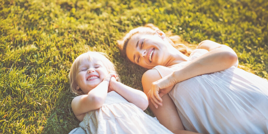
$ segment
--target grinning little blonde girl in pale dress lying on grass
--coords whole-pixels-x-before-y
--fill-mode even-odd
[[[82,133],[172,133],[144,113],[147,96],[120,83],[115,67],[100,52],[79,55],[69,73],[72,110]],[[116,81],[117,80],[117,81]],[[81,133],[81,128],[70,133]]]

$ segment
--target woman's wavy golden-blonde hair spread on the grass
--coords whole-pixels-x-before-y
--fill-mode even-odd
[[[122,40],[117,40],[118,47],[121,51],[121,55],[127,58],[126,57],[126,45],[128,44],[129,39],[131,39],[133,35],[137,33],[153,35],[155,34],[155,30],[159,30],[159,28],[156,27],[154,24],[146,24],[142,27],[137,27],[129,31]],[[192,49],[190,49],[187,46],[190,46],[192,48],[196,48],[197,46],[195,44],[189,44],[183,41],[178,35],[172,35],[172,32],[170,31],[166,33],[166,39],[173,47],[175,47],[177,50],[179,50],[181,53],[187,56],[189,56],[192,53]]]

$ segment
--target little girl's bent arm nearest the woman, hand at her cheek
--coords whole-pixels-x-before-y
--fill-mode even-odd
[[[121,82],[115,80],[115,78],[111,78],[109,88],[112,91],[116,91],[122,97],[124,97],[128,102],[135,104],[142,110],[145,110],[148,107],[148,99],[147,96],[140,90],[133,89]]]

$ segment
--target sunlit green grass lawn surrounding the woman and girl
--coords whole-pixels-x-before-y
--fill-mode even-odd
[[[116,40],[146,23],[189,43],[226,44],[236,51],[240,68],[268,79],[266,0],[1,0],[0,5],[0,133],[76,128],[68,73],[86,50],[107,53],[122,83],[142,90],[146,70],[120,57]]]

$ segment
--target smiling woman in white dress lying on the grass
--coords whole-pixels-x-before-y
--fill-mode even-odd
[[[122,55],[150,69],[143,90],[172,132],[268,133],[268,81],[237,68],[230,47],[204,40],[189,55],[152,24],[132,29],[118,44]]]

